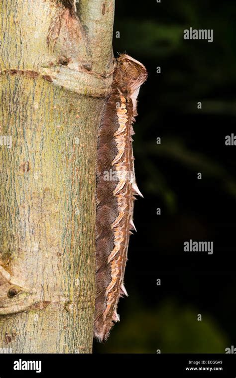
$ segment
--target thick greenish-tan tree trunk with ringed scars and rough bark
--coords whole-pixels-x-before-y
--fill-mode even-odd
[[[0,348],[12,353],[92,351],[114,2],[0,1]]]

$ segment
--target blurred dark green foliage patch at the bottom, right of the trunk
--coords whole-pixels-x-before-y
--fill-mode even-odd
[[[116,325],[113,335],[97,349],[100,353],[225,353],[229,345],[215,320],[167,300],[154,309],[129,303],[128,317]]]

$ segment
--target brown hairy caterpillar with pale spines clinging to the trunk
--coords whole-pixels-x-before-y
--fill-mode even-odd
[[[127,295],[123,277],[130,230],[134,229],[133,204],[140,195],[134,174],[132,124],[145,67],[126,54],[117,59],[112,91],[98,133],[96,281],[94,335],[107,340],[119,321],[119,297]]]

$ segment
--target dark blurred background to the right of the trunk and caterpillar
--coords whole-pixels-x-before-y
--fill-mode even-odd
[[[133,142],[144,199],[135,202],[129,297],[120,299],[120,323],[107,343],[94,343],[95,353],[236,347],[236,146],[225,145],[236,134],[235,20],[234,1],[116,1],[114,54],[125,51],[149,73]],[[214,29],[214,42],[184,40],[190,27]],[[214,253],[184,252],[190,239],[213,241]]]

